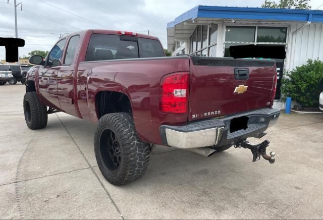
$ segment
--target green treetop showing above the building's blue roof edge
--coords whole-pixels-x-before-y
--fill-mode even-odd
[[[279,9],[311,9],[308,5],[310,0],[280,0],[279,3],[271,0],[265,0],[261,8],[279,8]]]

